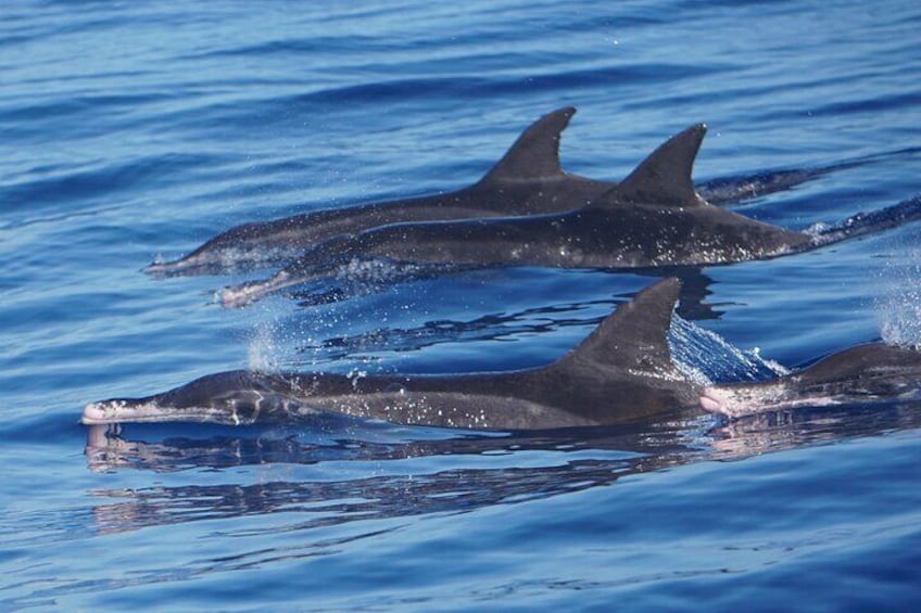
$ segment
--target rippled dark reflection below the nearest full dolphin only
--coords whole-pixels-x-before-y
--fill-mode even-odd
[[[285,511],[302,514],[289,526],[300,529],[463,512],[606,485],[627,474],[685,463],[705,449],[695,422],[408,442],[343,438],[317,444],[288,434],[146,442],[129,439],[117,429],[91,426],[86,454],[94,471],[173,472],[266,463],[367,467],[358,470],[361,476],[348,480],[329,478],[335,470],[318,470],[306,481],[98,490],[97,496],[113,500],[96,507],[99,528],[126,531]],[[451,468],[427,474],[413,470],[413,459],[436,456],[450,456]],[[367,476],[370,473],[375,476]]]

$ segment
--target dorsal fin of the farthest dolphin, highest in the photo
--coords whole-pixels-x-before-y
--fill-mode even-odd
[[[559,137],[575,114],[576,108],[567,106],[531,124],[480,183],[562,176]]]

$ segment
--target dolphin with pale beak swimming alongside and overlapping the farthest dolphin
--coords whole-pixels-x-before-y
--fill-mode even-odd
[[[705,133],[706,126],[701,124],[672,137],[620,184],[578,210],[394,224],[339,235],[267,280],[225,289],[220,301],[226,307],[244,306],[285,288],[350,268],[361,270],[363,266],[354,265],[380,260],[458,269],[723,265],[808,251],[921,217],[921,200],[916,197],[891,207],[897,215],[855,216],[822,234],[809,234],[714,206],[695,191],[691,176]]]

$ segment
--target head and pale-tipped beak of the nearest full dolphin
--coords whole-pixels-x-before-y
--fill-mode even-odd
[[[235,370],[202,376],[153,396],[90,403],[81,422],[207,422],[247,425],[302,411],[279,375]]]

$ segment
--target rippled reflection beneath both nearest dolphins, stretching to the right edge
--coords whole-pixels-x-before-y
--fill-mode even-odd
[[[201,520],[285,512],[272,531],[311,529],[365,520],[467,512],[481,507],[548,498],[635,475],[706,460],[739,460],[802,445],[878,435],[921,425],[916,405],[798,409],[730,422],[714,418],[613,429],[525,434],[455,435],[418,429],[362,430],[354,423],[337,438],[326,433],[252,431],[209,438],[134,437],[117,427],[91,426],[86,455],[93,471],[177,472],[217,470],[235,483],[100,489],[94,507],[102,532],[134,531]],[[228,430],[236,433],[236,430]],[[367,436],[365,436],[367,435]],[[418,462],[451,458],[442,470],[419,473]],[[254,478],[237,467],[290,465],[289,478]],[[349,467],[348,469],[343,469]],[[298,467],[301,467],[299,469]],[[303,470],[305,467],[313,470]],[[222,472],[222,470],[224,470]],[[279,471],[269,471],[273,475]],[[299,472],[303,478],[293,478]],[[352,477],[342,478],[342,474]],[[247,483],[236,481],[247,480]],[[255,481],[255,482],[252,482]],[[379,526],[378,526],[379,527]],[[255,529],[255,528],[254,528]],[[376,528],[377,529],[377,528]]]

